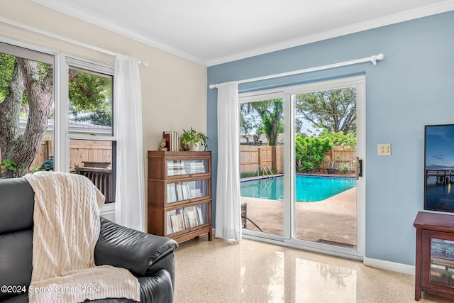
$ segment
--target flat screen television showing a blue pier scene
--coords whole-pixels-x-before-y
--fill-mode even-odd
[[[454,212],[454,124],[425,126],[424,209]]]

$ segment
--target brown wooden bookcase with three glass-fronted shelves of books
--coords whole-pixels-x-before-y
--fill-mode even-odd
[[[147,212],[148,233],[211,241],[211,152],[148,151]]]

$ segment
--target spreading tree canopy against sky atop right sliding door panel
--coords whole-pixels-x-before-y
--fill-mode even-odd
[[[297,94],[297,113],[318,128],[356,132],[356,88]]]

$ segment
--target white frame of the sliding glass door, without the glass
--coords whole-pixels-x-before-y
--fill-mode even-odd
[[[356,249],[330,246],[322,243],[304,241],[294,238],[296,231],[295,203],[294,203],[294,176],[295,176],[295,155],[294,155],[294,94],[305,92],[318,92],[328,89],[339,89],[344,87],[357,88],[357,155],[362,160],[362,177],[357,180],[356,193],[356,220],[357,220],[357,243]],[[352,77],[341,77],[326,81],[299,84],[290,87],[279,87],[256,92],[239,94],[240,103],[259,101],[259,99],[284,99],[284,234],[273,235],[259,231],[248,231],[243,229],[243,238],[274,243],[281,246],[311,250],[317,253],[338,255],[343,258],[362,260],[365,255],[365,187],[366,187],[366,159],[365,159],[365,134],[366,134],[366,97],[365,97],[365,75]],[[286,123],[287,122],[287,123]],[[239,137],[239,134],[238,134]],[[285,148],[292,146],[292,148]],[[239,152],[239,151],[238,151]]]

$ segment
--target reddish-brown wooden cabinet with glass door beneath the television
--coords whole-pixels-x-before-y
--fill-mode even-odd
[[[416,301],[421,291],[454,299],[454,216],[420,211],[413,225]]]

